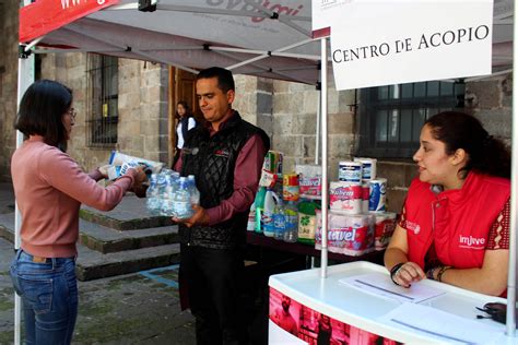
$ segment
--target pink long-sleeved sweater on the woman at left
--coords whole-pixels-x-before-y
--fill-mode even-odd
[[[22,249],[44,258],[70,258],[78,251],[79,209],[81,203],[109,211],[133,185],[137,172],[130,169],[107,188],[66,153],[32,135],[11,160],[14,194],[22,215]]]

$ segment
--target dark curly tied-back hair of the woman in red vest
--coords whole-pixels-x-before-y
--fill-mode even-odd
[[[468,163],[459,171],[466,178],[471,170],[491,176],[510,178],[510,152],[504,142],[490,135],[473,116],[445,111],[431,117],[425,122],[435,139],[446,145],[446,153],[458,148],[468,153]]]

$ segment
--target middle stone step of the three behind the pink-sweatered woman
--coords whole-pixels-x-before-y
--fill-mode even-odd
[[[80,219],[79,233],[81,245],[105,254],[178,242],[177,225],[119,231]]]

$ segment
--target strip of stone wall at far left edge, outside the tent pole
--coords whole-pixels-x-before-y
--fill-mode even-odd
[[[0,2],[0,181],[11,179],[11,155],[16,147],[13,128],[17,93],[17,7]]]

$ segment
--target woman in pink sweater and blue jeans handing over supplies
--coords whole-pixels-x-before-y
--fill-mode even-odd
[[[64,152],[74,118],[72,91],[43,80],[25,92],[15,123],[26,140],[11,160],[23,223],[10,273],[23,301],[27,344],[71,343],[80,205],[109,211],[145,180],[142,168],[129,169],[104,188],[96,183],[106,177],[99,169],[83,172]]]

